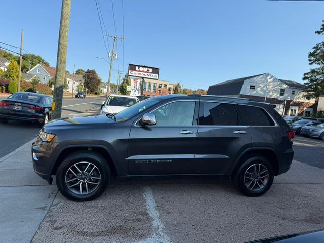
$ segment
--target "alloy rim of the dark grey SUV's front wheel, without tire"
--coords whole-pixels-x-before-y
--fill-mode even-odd
[[[85,195],[93,192],[100,184],[99,169],[90,162],[73,164],[65,174],[65,184],[73,193]]]

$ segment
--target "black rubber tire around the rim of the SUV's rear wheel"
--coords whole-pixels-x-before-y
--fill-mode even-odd
[[[252,177],[252,175],[246,174],[246,172],[248,171],[249,168],[253,170],[253,168],[254,168],[253,165],[262,165],[263,167],[261,166],[261,168],[267,169],[268,177],[265,177],[262,179],[263,180],[262,183],[264,183],[264,185],[261,184],[261,181],[260,181],[261,179],[252,179],[252,178],[247,179],[247,177],[245,177],[245,175]],[[265,170],[263,170],[263,171],[265,171]],[[265,174],[260,173],[261,177],[264,175]],[[259,178],[258,175],[253,175],[253,176],[256,176],[256,178]],[[238,170],[235,172],[235,174],[232,177],[232,182],[233,182],[235,188],[246,196],[261,196],[270,189],[270,187],[273,183],[273,179],[274,179],[273,166],[271,165],[269,160],[261,155],[251,155],[251,156],[248,156],[245,158],[244,163],[242,163],[241,166],[238,168]],[[249,185],[251,180],[253,182],[252,182],[252,184]],[[254,181],[256,181],[258,184],[255,183]],[[252,187],[253,184],[255,184],[255,186],[252,189],[249,188],[249,187]],[[261,185],[262,188],[259,185]]]

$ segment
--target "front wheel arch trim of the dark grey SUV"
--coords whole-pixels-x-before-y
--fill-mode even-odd
[[[107,163],[110,167],[111,175],[114,177],[117,177],[119,175],[119,169],[118,166],[116,165],[116,161],[111,151],[103,145],[94,145],[94,144],[91,145],[78,144],[78,145],[68,145],[62,147],[55,156],[54,159],[55,162],[52,164],[53,166],[50,170],[50,175],[56,175],[57,168],[59,167],[59,165],[61,164],[61,162],[66,156],[78,151],[97,152],[101,154],[107,160]]]

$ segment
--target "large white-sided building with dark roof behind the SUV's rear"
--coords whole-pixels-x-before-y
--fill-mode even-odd
[[[228,80],[210,86],[207,94],[250,98],[275,104],[280,114],[306,115],[316,112],[315,99],[307,87],[295,81],[278,79],[270,73]]]

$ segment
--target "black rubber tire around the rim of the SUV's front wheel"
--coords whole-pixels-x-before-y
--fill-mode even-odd
[[[91,163],[92,165],[96,166],[96,168],[99,171],[99,175],[97,174],[96,176],[100,177],[100,181],[97,181],[99,184],[96,185],[96,188],[94,188],[93,191],[86,193],[86,194],[82,194],[83,192],[81,192],[81,194],[78,194],[78,192],[72,191],[72,189],[73,189],[72,187],[70,187],[72,189],[68,188],[68,186],[66,184],[66,179],[69,179],[69,178],[67,178],[67,175],[68,175],[67,172],[68,172],[69,168],[72,167],[73,165],[75,165],[76,163],[79,163],[82,166],[82,163],[84,163],[84,162]],[[77,166],[79,166],[79,165],[77,164]],[[89,170],[91,170],[90,168],[89,168]],[[89,172],[89,170],[88,170],[88,172]],[[87,171],[87,169],[85,171]],[[77,172],[77,170],[75,170],[75,172]],[[84,172],[84,171],[82,171],[82,172]],[[88,176],[90,176],[90,175],[88,175]],[[77,179],[77,180],[80,181],[80,179]],[[75,180],[75,181],[77,182],[77,180]],[[63,196],[65,196],[66,198],[73,200],[73,201],[90,201],[90,200],[97,198],[105,191],[105,189],[108,186],[109,180],[110,180],[109,165],[108,165],[107,161],[104,159],[104,157],[96,152],[80,151],[80,152],[72,153],[71,155],[69,155],[62,161],[62,163],[60,164],[60,166],[58,167],[57,172],[56,172],[56,185],[57,185],[59,191],[62,193]],[[87,183],[83,182],[83,180],[82,180],[81,184],[83,184],[83,183],[87,184]],[[90,182],[88,181],[88,183],[90,183]],[[83,187],[83,189],[84,189],[84,187]],[[87,187],[87,189],[88,189],[88,187]],[[79,190],[79,189],[77,189],[77,190]]]

